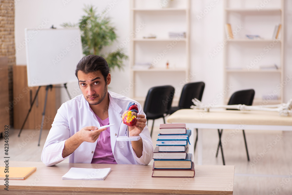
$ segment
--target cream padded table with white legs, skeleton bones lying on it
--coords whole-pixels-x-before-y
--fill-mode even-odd
[[[244,130],[284,130],[292,131],[292,116],[279,116],[278,112],[181,109],[168,116],[168,123],[186,123],[187,128],[198,128],[198,164],[202,164],[202,130],[244,129]],[[193,131],[194,132],[194,131]],[[194,134],[193,134],[194,135]],[[194,136],[190,137],[194,144]],[[194,154],[194,147],[189,147]]]

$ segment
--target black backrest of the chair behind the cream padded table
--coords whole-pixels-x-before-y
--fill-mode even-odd
[[[244,104],[251,106],[253,104],[253,97],[255,90],[247,89],[234,92],[228,102],[228,105]]]

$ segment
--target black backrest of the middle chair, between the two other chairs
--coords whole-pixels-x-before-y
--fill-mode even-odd
[[[205,88],[204,82],[185,84],[180,95],[180,101],[178,103],[179,109],[190,109],[190,106],[193,105],[192,99],[194,98],[197,98],[198,100],[201,101],[204,88]]]

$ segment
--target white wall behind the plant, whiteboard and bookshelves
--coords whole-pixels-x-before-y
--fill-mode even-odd
[[[117,28],[119,36],[117,42],[110,49],[115,49],[120,44],[125,45],[125,53],[129,55],[129,42],[126,41],[130,37],[129,30],[129,0],[117,0],[117,4],[113,4],[114,0],[17,0],[15,5],[15,46],[16,64],[25,65],[25,48],[21,49],[24,40],[24,28],[44,28],[54,25],[60,28],[63,22],[77,23],[80,16],[83,15],[82,8],[84,5],[92,4],[98,7],[98,11],[102,11],[108,7],[110,10],[107,15],[112,18],[113,25]],[[200,20],[197,15],[214,3],[208,13]],[[285,0],[285,68],[284,77],[292,74],[292,1]],[[112,8],[110,7],[112,5]],[[46,21],[46,22],[44,22]],[[223,103],[219,98],[226,86],[223,86],[223,52],[219,52],[212,59],[209,53],[219,43],[223,42],[223,3],[217,0],[191,0],[191,72],[195,72],[196,76],[191,81],[204,81],[206,83],[202,101],[205,103],[217,100]],[[131,87],[128,73],[128,60],[124,62],[124,70],[112,70],[112,83],[110,90],[116,93],[125,93],[125,90]],[[248,79],[248,78],[246,78]],[[159,83],[155,83],[154,85]],[[260,87],[260,86],[256,86]],[[78,84],[68,83],[68,88],[72,96],[81,94]],[[292,82],[288,82],[284,86],[284,102],[288,101],[292,96]],[[124,90],[124,92],[123,92]],[[145,89],[147,90],[147,89]],[[229,97],[226,97],[229,98]],[[67,100],[65,90],[62,90],[62,102]]]

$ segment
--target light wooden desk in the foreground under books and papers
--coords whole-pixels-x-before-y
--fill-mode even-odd
[[[5,166],[0,161],[0,166]],[[35,166],[25,180],[9,180],[9,191],[0,194],[232,194],[234,166],[195,166],[195,177],[151,177],[152,165],[9,162],[9,166]],[[71,167],[108,168],[104,181],[62,180]],[[2,182],[3,183],[3,182]]]

